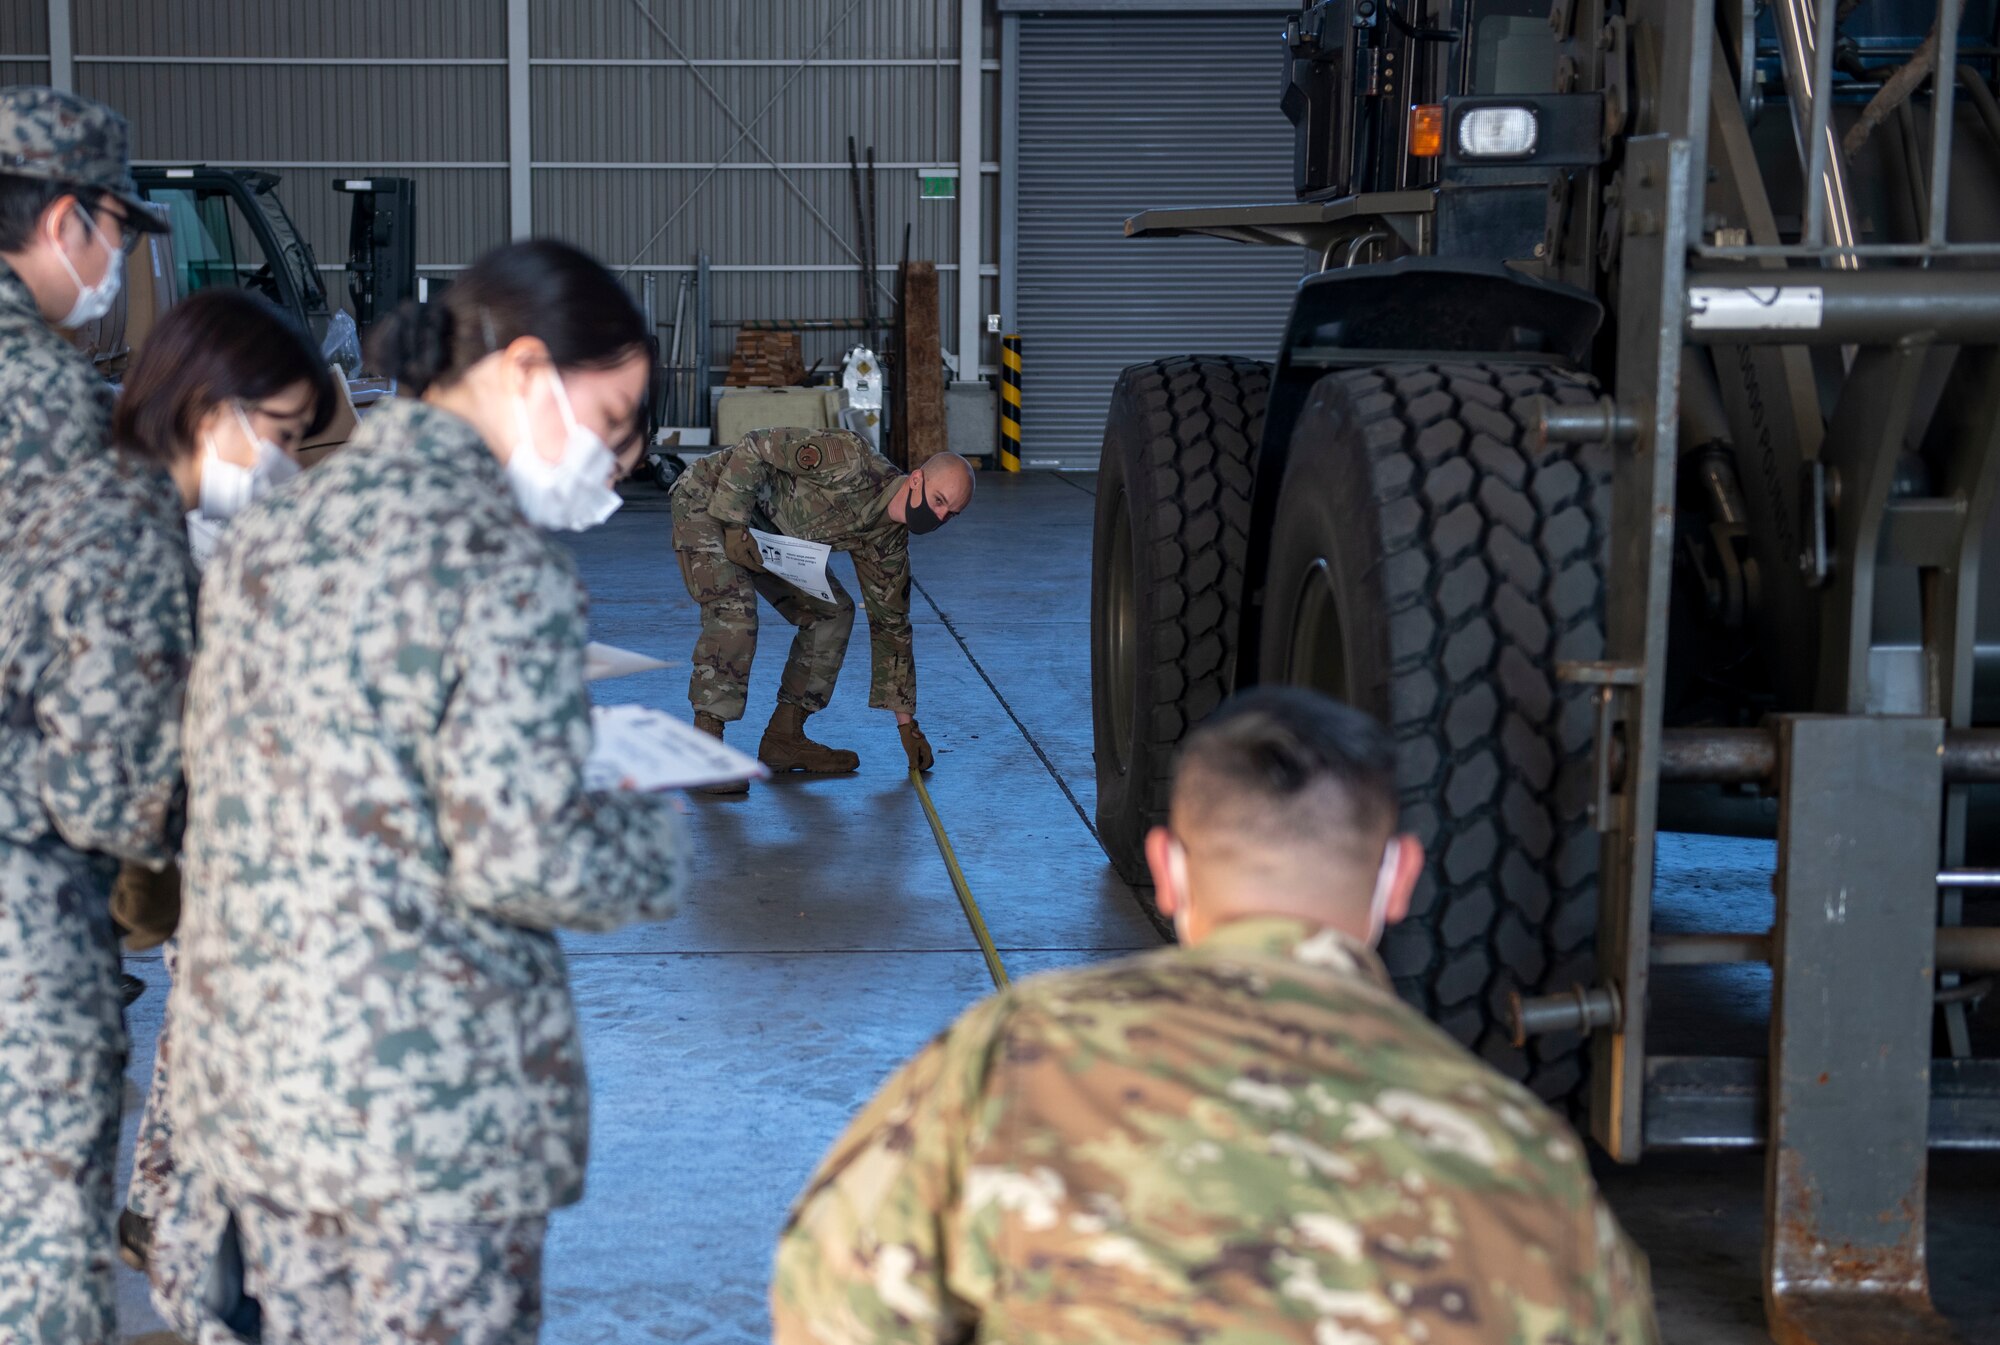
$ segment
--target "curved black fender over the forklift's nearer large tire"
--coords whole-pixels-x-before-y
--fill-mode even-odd
[[[1306,276],[1292,300],[1272,378],[1250,506],[1244,558],[1244,650],[1238,675],[1256,677],[1258,618],[1278,490],[1292,428],[1328,372],[1394,360],[1464,356],[1588,368],[1604,304],[1586,290],[1542,280],[1500,262],[1404,256]]]

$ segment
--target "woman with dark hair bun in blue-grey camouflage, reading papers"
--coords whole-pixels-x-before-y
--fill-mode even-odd
[[[562,356],[522,290],[602,314],[552,326],[610,346]],[[586,594],[524,514],[546,474],[500,454],[596,470],[632,436],[644,330],[574,248],[480,258],[376,332],[422,400],[374,408],[208,562],[168,1001],[186,1181],[150,1259],[190,1339],[216,1331],[230,1213],[264,1341],[536,1335],[544,1221],[582,1197],[590,1135],[556,931],[672,915],[686,847],[668,801],[584,787]]]

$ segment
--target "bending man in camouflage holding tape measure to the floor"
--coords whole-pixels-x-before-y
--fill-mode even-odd
[[[972,466],[958,454],[938,454],[904,474],[846,430],[756,430],[688,468],[674,482],[672,506],[680,574],[702,608],[688,681],[694,723],[720,739],[722,725],[742,719],[762,594],[798,634],[758,757],[776,771],[814,775],[860,765],[854,753],[822,747],[804,731],[806,717],[824,711],[834,695],[854,630],[854,598],[830,566],[832,602],[766,574],[748,528],[778,532],[854,558],[874,654],[868,705],[896,715],[910,767],[928,771],[930,743],[916,725],[910,534],[944,526],[972,502]]]

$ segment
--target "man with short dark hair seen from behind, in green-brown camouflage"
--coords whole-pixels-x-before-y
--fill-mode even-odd
[[[1530,1093],[1396,999],[1392,743],[1312,693],[1188,741],[1148,839],[1182,947],[1018,983],[848,1127],[784,1345],[1646,1345],[1646,1267]]]

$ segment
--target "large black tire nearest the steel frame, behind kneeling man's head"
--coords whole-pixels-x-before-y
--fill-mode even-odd
[[[1544,1099],[1582,1037],[1512,1045],[1508,997],[1594,983],[1592,703],[1610,448],[1542,444],[1532,400],[1590,378],[1394,364],[1322,378],[1292,432],[1258,632],[1260,681],[1316,687],[1396,735],[1404,825],[1428,853],[1382,957],[1398,991]]]

